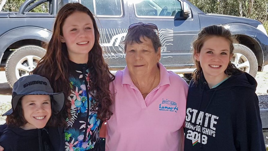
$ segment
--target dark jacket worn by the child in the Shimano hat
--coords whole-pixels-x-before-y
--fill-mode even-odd
[[[42,136],[43,135],[43,140]],[[0,125],[0,145],[5,151],[63,151],[65,146],[63,128],[44,128],[35,130],[22,130],[9,128],[7,124]],[[49,137],[49,142],[47,137]],[[32,145],[23,144],[23,142]],[[41,144],[40,142],[43,142]],[[44,143],[46,142],[46,143]],[[41,144],[41,145],[39,145]],[[46,146],[49,144],[49,148]]]

